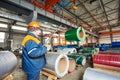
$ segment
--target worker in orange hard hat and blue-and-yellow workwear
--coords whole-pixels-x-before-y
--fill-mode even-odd
[[[27,74],[27,80],[39,80],[40,71],[46,64],[47,48],[39,40],[39,23],[30,22],[28,31],[22,41],[22,69]]]

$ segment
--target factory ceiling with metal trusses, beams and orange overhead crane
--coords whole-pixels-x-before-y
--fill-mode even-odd
[[[25,22],[24,19],[36,10],[41,23],[63,26],[59,27],[61,31],[82,26],[98,33],[120,25],[120,0],[0,0],[0,10],[1,18],[20,22]],[[14,17],[6,17],[4,12]]]

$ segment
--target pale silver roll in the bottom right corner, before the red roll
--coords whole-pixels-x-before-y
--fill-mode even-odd
[[[97,69],[87,68],[83,80],[120,80],[120,75],[111,74]]]

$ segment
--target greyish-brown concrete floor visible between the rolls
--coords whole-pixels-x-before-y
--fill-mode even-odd
[[[14,80],[27,80],[26,74],[22,71],[20,66],[21,66],[21,58],[18,57],[18,66],[13,73],[13,78]],[[86,65],[84,66],[79,65],[72,73],[66,74],[61,79],[57,79],[57,80],[82,80],[84,71],[89,66],[90,66],[89,63],[86,63]],[[47,80],[47,78],[43,75],[41,75],[40,78],[41,78],[40,80]]]

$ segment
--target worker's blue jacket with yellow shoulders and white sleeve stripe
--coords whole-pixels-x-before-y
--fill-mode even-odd
[[[46,64],[46,47],[33,34],[28,33],[22,41],[22,69],[27,73],[40,71]]]

